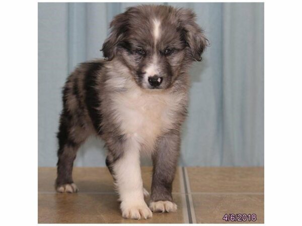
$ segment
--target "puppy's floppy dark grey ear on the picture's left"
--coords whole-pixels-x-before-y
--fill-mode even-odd
[[[112,60],[116,54],[117,46],[125,36],[128,28],[127,12],[115,16],[110,23],[111,32],[109,37],[105,40],[101,51],[103,51],[104,57],[108,60]]]

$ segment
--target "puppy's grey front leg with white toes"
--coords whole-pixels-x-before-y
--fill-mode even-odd
[[[153,154],[153,179],[149,207],[154,212],[174,212],[172,182],[177,167],[180,135],[172,131],[161,137]]]

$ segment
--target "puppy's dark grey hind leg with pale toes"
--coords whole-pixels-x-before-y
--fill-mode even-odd
[[[55,181],[57,192],[73,193],[78,191],[77,185],[72,180],[72,167],[79,147],[87,138],[87,132],[73,122],[71,117],[63,111],[57,134],[59,141],[57,178]]]

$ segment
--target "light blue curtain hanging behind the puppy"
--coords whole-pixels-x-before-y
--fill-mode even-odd
[[[38,164],[55,166],[61,87],[75,65],[102,57],[112,18],[138,3],[38,4]],[[160,4],[160,3],[157,3]],[[264,164],[264,4],[162,3],[192,8],[210,47],[191,69],[184,166]],[[105,166],[91,138],[75,166]],[[143,164],[150,164],[143,159]]]

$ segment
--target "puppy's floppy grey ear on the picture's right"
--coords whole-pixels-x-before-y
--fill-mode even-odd
[[[189,57],[201,61],[201,54],[209,45],[202,29],[195,22],[196,15],[190,9],[179,9],[180,28],[187,44]]]

